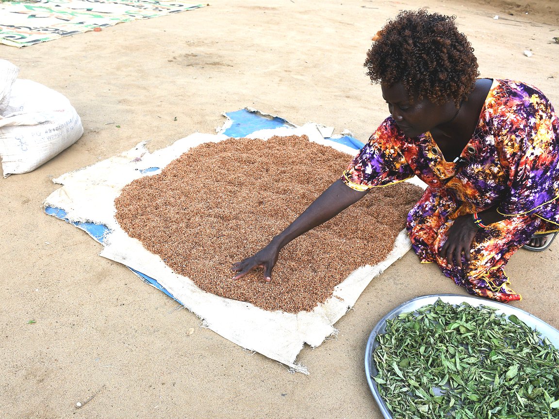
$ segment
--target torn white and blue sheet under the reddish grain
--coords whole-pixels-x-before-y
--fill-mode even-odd
[[[316,347],[326,337],[337,333],[334,323],[353,306],[371,279],[410,249],[405,232],[397,236],[394,248],[385,260],[375,266],[362,266],[355,270],[335,287],[332,297],[314,310],[293,314],[264,311],[252,304],[202,291],[190,279],[175,274],[159,256],[146,251],[139,241],[127,236],[114,216],[114,200],[126,184],[145,175],[158,174],[160,168],[193,146],[228,139],[231,130],[239,127],[244,132],[237,135],[263,140],[274,135],[306,135],[310,141],[347,153],[348,161],[359,148],[349,136],[334,141],[324,139],[321,132],[325,132],[325,127],[314,123],[296,127],[281,118],[243,112],[247,113],[249,121],[251,118],[268,120],[274,128],[264,128],[248,135],[247,127],[242,126],[247,125],[245,118],[245,123],[230,120],[228,128],[217,135],[192,134],[151,154],[145,143],[140,143],[121,155],[54,179],[55,183],[64,186],[45,200],[45,208],[47,213],[88,231],[94,239],[102,242],[101,256],[125,264],[140,277],[176,298],[202,318],[203,325],[242,347],[280,361],[295,371],[307,373],[304,366],[296,363],[297,354],[305,342]],[[252,123],[248,122],[248,125]]]

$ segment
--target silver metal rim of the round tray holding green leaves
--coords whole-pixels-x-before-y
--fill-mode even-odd
[[[527,311],[509,306],[508,304],[498,303],[496,301],[491,301],[485,298],[461,296],[459,294],[436,294],[432,296],[423,296],[411,299],[410,301],[396,307],[394,310],[384,316],[380,322],[377,323],[375,328],[373,328],[371,335],[369,335],[369,340],[367,341],[367,347],[365,349],[365,374],[367,376],[367,383],[369,384],[369,388],[373,393],[373,397],[375,397],[378,407],[380,408],[385,419],[392,419],[392,413],[390,412],[389,408],[386,406],[385,401],[382,399],[380,393],[378,392],[377,382],[372,378],[376,377],[376,375],[378,374],[375,361],[373,360],[373,352],[378,346],[376,337],[377,335],[381,335],[385,332],[387,320],[391,320],[392,318],[399,316],[401,313],[413,312],[418,308],[427,306],[428,304],[434,304],[439,298],[441,299],[441,301],[448,304],[458,305],[461,303],[468,303],[470,304],[470,306],[473,307],[494,307],[497,309],[496,313],[498,314],[504,314],[506,316],[515,315],[519,318],[519,320],[522,320],[528,326],[536,329],[543,337],[547,337],[547,339],[549,339],[553,346],[559,348],[559,330],[548,325],[546,322],[539,319],[538,317],[531,315]]]

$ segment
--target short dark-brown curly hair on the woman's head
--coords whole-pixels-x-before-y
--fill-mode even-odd
[[[378,32],[364,66],[373,83],[401,82],[411,98],[456,106],[475,87],[477,59],[456,16],[424,9],[400,12]]]

